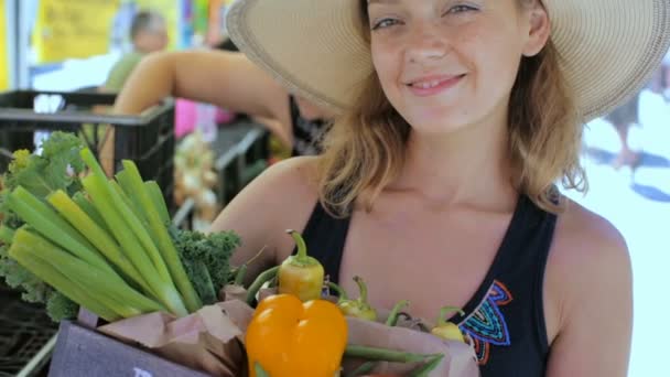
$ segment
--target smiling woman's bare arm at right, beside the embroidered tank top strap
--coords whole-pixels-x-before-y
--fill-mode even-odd
[[[575,237],[558,241],[547,282],[560,294],[559,332],[548,377],[628,375],[633,330],[633,273],[623,237],[606,220],[588,216]]]

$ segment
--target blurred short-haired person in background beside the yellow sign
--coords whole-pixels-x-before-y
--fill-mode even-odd
[[[165,19],[153,11],[140,11],[132,20],[130,39],[132,51],[125,54],[114,65],[101,88],[102,91],[120,91],[128,76],[144,55],[162,51],[168,46]]]

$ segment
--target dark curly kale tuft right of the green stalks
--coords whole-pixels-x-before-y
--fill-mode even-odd
[[[241,244],[239,236],[234,231],[204,235],[175,227],[171,227],[170,234],[203,304],[213,304],[229,281],[230,257]]]

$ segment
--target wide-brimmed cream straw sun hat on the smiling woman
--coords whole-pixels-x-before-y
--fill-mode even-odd
[[[670,0],[542,0],[584,121],[642,88],[670,43]],[[230,37],[295,94],[342,111],[372,72],[359,0],[237,0]]]

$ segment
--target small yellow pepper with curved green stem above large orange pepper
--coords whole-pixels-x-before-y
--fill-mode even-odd
[[[287,230],[298,246],[298,255],[287,258],[278,272],[279,293],[296,295],[303,302],[321,298],[324,270],[321,263],[307,256],[307,247],[295,230]]]

